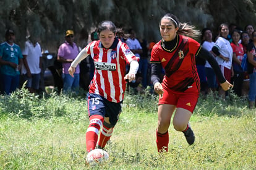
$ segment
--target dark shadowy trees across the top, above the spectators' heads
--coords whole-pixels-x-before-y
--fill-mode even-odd
[[[236,23],[244,28],[256,25],[255,0],[2,0],[0,40],[13,28],[22,46],[27,35],[38,36],[44,49],[56,50],[67,29],[73,29],[80,46],[102,20],[112,20],[125,30],[134,28],[137,36],[159,40],[160,18],[171,12],[198,29],[216,28],[220,23]]]

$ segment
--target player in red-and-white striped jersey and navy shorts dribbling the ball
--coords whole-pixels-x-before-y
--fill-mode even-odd
[[[92,56],[95,72],[87,95],[89,126],[86,132],[87,152],[94,150],[98,132],[102,127],[98,148],[104,148],[113,133],[114,125],[121,113],[122,101],[126,90],[126,80],[135,80],[139,68],[139,58],[129,47],[116,38],[124,35],[113,22],[103,21],[98,26],[100,40],[89,43],[69,67],[72,76],[75,67],[87,56]],[[126,64],[130,70],[126,74]]]

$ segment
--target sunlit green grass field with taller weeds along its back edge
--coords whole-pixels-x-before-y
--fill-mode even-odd
[[[109,160],[85,164],[87,102],[82,96],[0,96],[0,169],[256,169],[256,110],[232,101],[198,101],[195,143],[169,128],[169,151],[155,143],[157,97],[127,95],[106,145]]]

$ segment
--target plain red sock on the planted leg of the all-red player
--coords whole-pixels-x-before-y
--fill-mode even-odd
[[[169,143],[168,131],[165,134],[160,134],[156,130],[156,145],[157,145],[158,152],[162,152],[163,150],[168,151],[168,143]]]

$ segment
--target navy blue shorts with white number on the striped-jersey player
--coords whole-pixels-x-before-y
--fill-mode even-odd
[[[87,103],[88,103],[88,116],[100,115],[102,117],[109,117],[109,122],[111,125],[116,125],[117,120],[119,119],[119,114],[122,111],[121,104],[114,103],[106,100],[101,95],[96,95],[93,93],[87,94]]]

